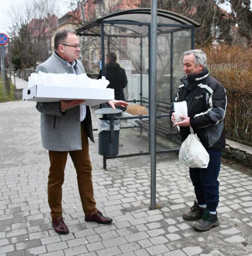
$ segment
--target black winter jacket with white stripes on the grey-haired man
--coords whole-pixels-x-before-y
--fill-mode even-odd
[[[206,149],[221,151],[226,144],[224,117],[226,113],[226,90],[220,82],[209,75],[208,69],[181,79],[174,102],[186,101],[190,125]],[[170,107],[170,116],[174,103]],[[189,127],[180,127],[182,142],[190,134]]]

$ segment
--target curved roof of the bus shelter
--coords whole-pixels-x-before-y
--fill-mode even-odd
[[[116,11],[114,13],[110,13],[100,19],[96,19],[95,21],[89,22],[84,26],[77,29],[78,34],[82,34],[83,32],[94,28],[95,26],[99,26],[102,21],[124,21],[124,22],[139,22],[139,23],[151,23],[151,9],[150,8],[139,8],[139,9],[130,9],[123,11]],[[158,24],[174,24],[174,25],[193,25],[195,27],[199,27],[200,24],[183,16],[178,13],[174,13],[172,11],[166,11],[162,9],[158,9],[157,11],[157,21]],[[125,25],[121,25],[125,27]],[[129,26],[129,25],[127,25]],[[159,28],[160,29],[160,28]],[[165,28],[167,30],[167,28]]]

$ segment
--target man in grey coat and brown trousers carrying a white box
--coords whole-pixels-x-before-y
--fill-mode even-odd
[[[82,74],[85,69],[77,60],[80,56],[80,42],[74,31],[60,30],[54,38],[55,52],[48,60],[40,64],[36,73]],[[73,84],[69,86],[74,86]],[[49,151],[50,168],[48,176],[48,203],[51,209],[52,226],[59,234],[69,230],[62,217],[62,185],[64,171],[69,154],[77,173],[78,189],[85,221],[109,224],[111,218],[102,215],[96,209],[93,193],[92,166],[89,158],[88,137],[94,142],[91,113],[89,106],[80,105],[83,100],[60,102],[37,102],[41,112],[42,145]],[[108,104],[126,106],[124,101],[109,101]]]

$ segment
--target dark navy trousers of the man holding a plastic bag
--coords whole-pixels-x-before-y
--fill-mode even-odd
[[[221,168],[221,151],[207,151],[210,159],[208,168],[189,168],[189,172],[198,204],[206,204],[209,211],[216,211],[219,203],[217,178]]]

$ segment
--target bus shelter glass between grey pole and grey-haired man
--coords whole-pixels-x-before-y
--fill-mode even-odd
[[[180,78],[184,76],[183,52],[191,49],[191,29],[173,28],[159,34],[157,48],[157,113],[169,114],[170,103],[181,84]],[[180,141],[178,129],[172,126],[169,118],[157,119],[157,134]],[[157,141],[161,140],[159,136]],[[157,148],[163,149],[164,143],[165,140],[157,144]],[[170,140],[166,141],[167,148],[173,147],[170,143]]]

